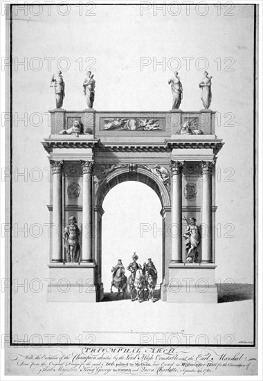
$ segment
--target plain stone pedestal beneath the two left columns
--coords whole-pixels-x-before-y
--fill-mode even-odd
[[[96,265],[93,263],[51,263],[47,287],[47,301],[96,302],[100,300],[103,285],[96,284]],[[55,281],[54,281],[55,279]],[[101,291],[102,289],[102,291]]]

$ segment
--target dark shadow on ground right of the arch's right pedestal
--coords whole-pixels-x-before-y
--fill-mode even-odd
[[[253,299],[254,285],[244,283],[217,284],[218,303]]]

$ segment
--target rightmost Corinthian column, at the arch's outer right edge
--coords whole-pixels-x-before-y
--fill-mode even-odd
[[[202,161],[202,263],[212,262],[212,166],[214,161]]]

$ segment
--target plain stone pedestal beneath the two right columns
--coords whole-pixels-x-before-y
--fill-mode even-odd
[[[167,303],[217,303],[215,268],[215,264],[170,263]]]

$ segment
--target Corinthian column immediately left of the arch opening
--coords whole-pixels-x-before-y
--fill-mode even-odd
[[[92,258],[92,169],[93,161],[82,162],[82,262],[93,262]]]

